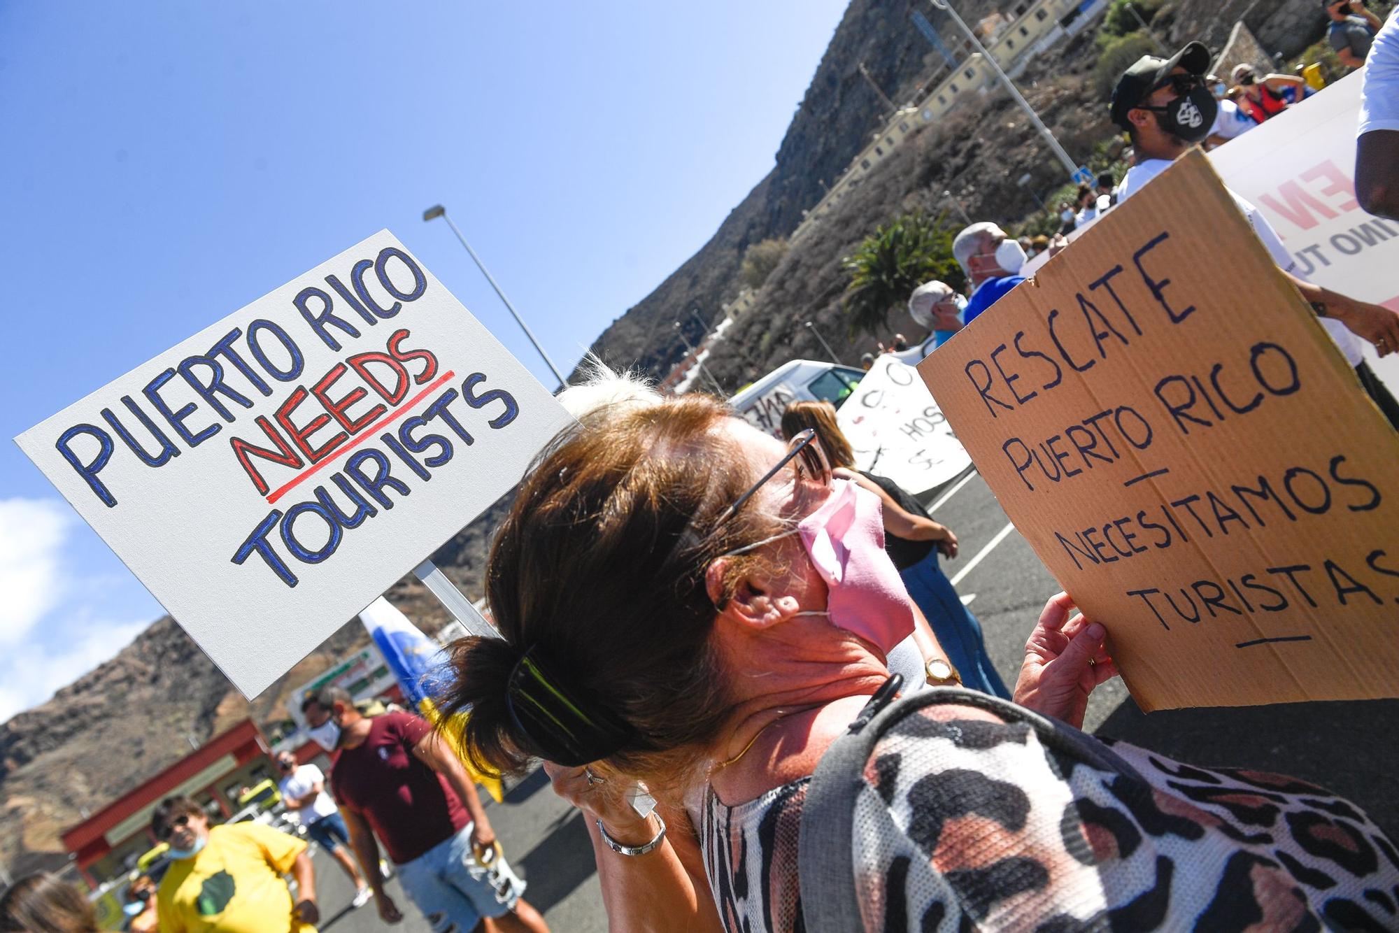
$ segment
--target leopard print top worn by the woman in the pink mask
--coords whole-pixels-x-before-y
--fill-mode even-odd
[[[905,716],[856,802],[865,929],[1399,930],[1399,852],[1353,804],[1107,744],[1137,776],[1048,748],[1025,723]],[[736,807],[705,795],[705,870],[727,930],[804,930],[809,782]]]

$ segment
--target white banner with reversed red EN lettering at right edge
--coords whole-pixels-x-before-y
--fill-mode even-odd
[[[1356,71],[1210,152],[1214,171],[1251,201],[1297,260],[1298,276],[1399,311],[1399,222],[1356,200]],[[1399,393],[1399,355],[1367,362]]]

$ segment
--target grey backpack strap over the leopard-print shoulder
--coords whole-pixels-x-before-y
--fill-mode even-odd
[[[863,929],[855,888],[855,802],[865,786],[865,765],[874,744],[898,720],[923,706],[977,706],[1007,723],[1025,723],[1039,743],[1083,761],[1144,782],[1142,774],[1102,741],[1009,699],[964,687],[932,687],[894,701],[902,687],[894,674],[880,687],[849,729],[831,743],[811,774],[802,803],[797,836],[797,880],[807,933],[849,933]]]

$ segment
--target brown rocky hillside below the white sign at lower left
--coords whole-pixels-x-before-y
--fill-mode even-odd
[[[490,532],[508,498],[464,527],[434,562],[473,599]],[[425,632],[449,620],[418,583],[386,593]],[[0,725],[0,866],[17,876],[64,862],[59,835],[234,723],[252,716],[270,727],[287,718],[297,687],[368,642],[350,620],[276,684],[245,699],[171,617],[162,617],[116,657]]]

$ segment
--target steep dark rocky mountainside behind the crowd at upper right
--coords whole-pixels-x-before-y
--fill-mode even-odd
[[[996,10],[993,0],[963,0],[967,22]],[[1140,6],[1140,4],[1139,4]],[[1172,49],[1200,39],[1219,50],[1242,21],[1270,52],[1295,55],[1315,42],[1325,20],[1307,0],[1165,0],[1153,31]],[[778,148],[772,171],[720,224],[715,235],[651,295],[618,318],[592,350],[617,366],[637,366],[665,378],[684,358],[674,336],[680,322],[691,344],[704,337],[688,312],[718,320],[720,305],[739,292],[739,266],[750,243],[788,236],[884,124],[890,108],[921,98],[940,59],[912,27],[921,11],[946,39],[954,27],[932,4],[909,0],[852,0],[817,67],[796,116]],[[1017,78],[1024,97],[1059,143],[1087,161],[1116,131],[1107,120],[1107,99],[1093,80],[1100,48],[1095,27],[1060,42]],[[862,74],[867,73],[867,78]],[[874,90],[879,87],[879,92]],[[1030,173],[1024,187],[1017,180]],[[729,337],[712,348],[706,364],[720,385],[734,390],[793,357],[825,358],[811,332],[821,330],[846,362],[874,346],[846,340],[839,306],[845,288],[839,260],[881,222],[912,210],[947,207],[939,196],[953,192],[972,220],[1014,225],[1037,211],[1031,192],[1046,193],[1063,171],[999,90],[967,101],[942,122],[923,126],[867,175],[817,231],[793,243],[767,280],[757,304]],[[960,220],[960,217],[958,217]],[[949,221],[951,224],[953,221]],[[891,330],[911,327],[905,318]],[[912,336],[912,334],[909,334]]]

